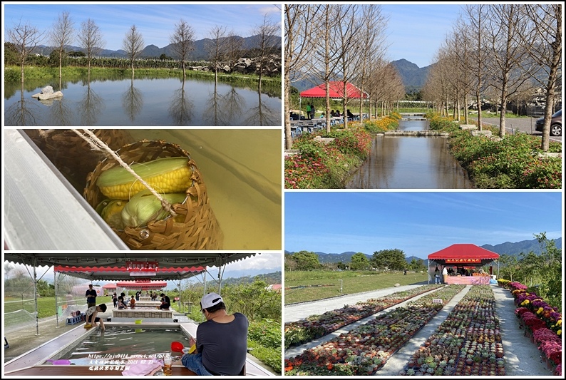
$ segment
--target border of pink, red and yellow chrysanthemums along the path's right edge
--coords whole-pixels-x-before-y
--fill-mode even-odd
[[[542,359],[556,376],[562,376],[562,313],[519,282],[510,282],[515,298],[515,315],[531,342],[537,345]]]

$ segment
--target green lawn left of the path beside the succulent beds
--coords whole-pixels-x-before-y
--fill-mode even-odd
[[[408,285],[427,281],[426,273],[381,272],[329,272],[329,271],[286,271],[285,272],[285,304],[314,301],[338,296],[340,281],[344,294],[368,292],[370,290],[393,287],[395,284]],[[309,285],[331,285],[325,287],[304,287]],[[299,287],[296,289],[288,289]]]

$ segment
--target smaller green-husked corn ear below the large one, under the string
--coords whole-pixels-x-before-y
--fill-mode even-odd
[[[185,193],[161,196],[172,205],[182,203],[187,197]],[[149,190],[142,190],[134,195],[121,212],[123,225],[130,227],[145,226],[150,220],[161,220],[168,215],[170,213],[163,210],[161,202]]]

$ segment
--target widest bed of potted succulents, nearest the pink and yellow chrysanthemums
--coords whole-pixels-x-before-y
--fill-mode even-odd
[[[505,375],[499,319],[490,287],[471,287],[400,375]]]

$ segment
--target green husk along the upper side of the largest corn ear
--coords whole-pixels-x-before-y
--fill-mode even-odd
[[[177,170],[187,166],[189,158],[187,157],[168,157],[158,158],[148,163],[133,163],[130,168],[139,175],[143,180],[162,175],[173,170]],[[116,166],[101,173],[96,181],[99,187],[123,185],[124,183],[132,183],[136,178],[125,168]]]

